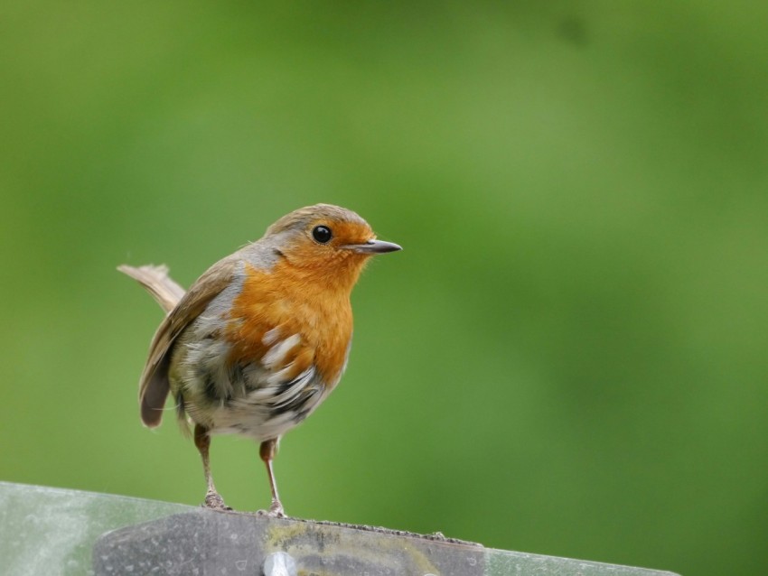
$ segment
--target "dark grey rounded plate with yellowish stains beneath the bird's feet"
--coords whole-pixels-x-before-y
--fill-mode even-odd
[[[479,545],[200,509],[105,534],[93,566],[97,576],[128,564],[137,573],[258,574],[275,552],[290,553],[301,574],[329,576],[482,576],[486,554]]]

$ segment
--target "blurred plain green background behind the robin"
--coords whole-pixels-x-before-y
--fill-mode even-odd
[[[353,294],[289,514],[768,572],[768,5],[6,1],[0,478],[197,503],[138,420],[162,318],[286,212],[405,250]],[[252,441],[214,439],[230,505]]]

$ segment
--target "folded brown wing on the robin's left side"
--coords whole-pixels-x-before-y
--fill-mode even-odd
[[[139,383],[141,420],[150,428],[159,425],[163,418],[165,398],[170,390],[168,366],[173,342],[232,281],[238,262],[233,256],[220,260],[202,274],[155,332]]]

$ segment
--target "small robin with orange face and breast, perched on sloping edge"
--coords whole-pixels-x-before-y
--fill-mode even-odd
[[[139,383],[141,419],[155,428],[170,392],[183,430],[194,424],[207,484],[205,506],[230,509],[213,484],[211,434],[260,441],[272,504],[285,517],[272,469],[280,437],[339,383],[352,336],[350,294],[371,255],[400,250],[376,239],[349,209],[297,209],[264,237],[212,265],[190,289],[164,266],[118,270],[167,312]]]

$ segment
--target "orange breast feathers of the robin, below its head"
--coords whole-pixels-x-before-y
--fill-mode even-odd
[[[298,335],[299,342],[273,369],[288,367],[290,378],[314,364],[323,382],[333,386],[341,376],[351,333],[349,291],[285,262],[269,272],[246,265],[246,279],[230,313],[231,360],[258,362],[275,341]]]

